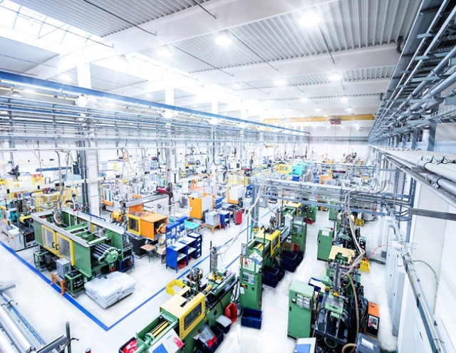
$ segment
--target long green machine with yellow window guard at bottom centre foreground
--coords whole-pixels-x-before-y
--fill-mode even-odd
[[[214,262],[217,260],[211,261],[213,269]],[[236,284],[236,275],[227,270],[211,272],[203,278],[200,268],[192,268],[182,281],[172,280],[166,286],[166,293],[172,297],[160,306],[157,317],[123,344],[119,352],[195,352],[200,344],[195,338],[198,332],[204,325],[217,325],[217,318],[231,302]],[[214,347],[222,339],[223,335],[217,337]]]

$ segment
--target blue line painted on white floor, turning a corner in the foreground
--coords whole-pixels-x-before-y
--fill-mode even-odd
[[[276,206],[277,207],[277,206]],[[274,207],[274,209],[276,209],[276,207]],[[274,210],[273,209],[273,210]],[[261,218],[264,218],[265,216],[267,216],[268,214],[270,214],[271,211],[268,211],[266,214],[264,214],[263,216],[261,216],[259,219]],[[244,228],[239,234],[242,234],[244,233],[244,231],[247,231],[247,228]],[[234,237],[233,237],[234,238]],[[233,238],[230,238],[226,243],[224,243],[223,245],[227,245],[227,243],[229,243],[230,241],[233,240]],[[49,280],[48,278],[46,278],[45,275],[43,275],[43,273],[41,273],[40,271],[38,271],[36,268],[34,268],[30,263],[28,263],[26,260],[24,260],[24,258],[21,258],[21,256],[19,256],[14,250],[12,250],[11,248],[9,248],[9,246],[6,246],[5,243],[3,243],[2,241],[0,241],[0,244],[1,246],[3,246],[7,251],[9,251],[11,254],[13,254],[16,258],[18,258],[21,263],[24,263],[24,265],[26,265],[30,270],[32,270],[34,273],[36,273],[42,280],[44,280],[46,283],[48,284],[51,284],[51,280]],[[202,258],[202,260],[199,260],[199,262],[197,262],[195,265],[192,266],[195,267],[197,265],[199,265],[200,263],[202,263],[203,261],[207,260],[208,258],[210,257],[210,255],[206,255],[204,258]],[[234,260],[232,260],[231,263],[229,263],[229,265],[226,266],[226,268],[229,268],[229,266],[231,266],[234,261],[236,261],[237,259],[239,258],[239,255],[234,258]],[[182,273],[181,275],[177,276],[177,278],[175,279],[180,279],[182,277],[184,277],[185,275],[187,275],[187,273],[190,271],[190,269],[187,269],[185,270],[184,273]],[[58,288],[56,285],[51,285],[51,287],[56,290],[58,293],[60,293],[60,288]],[[160,293],[162,293],[163,291],[165,290],[165,287],[161,288],[160,290],[157,290],[156,293],[154,293],[153,295],[151,295],[150,297],[148,297],[144,302],[142,302],[140,305],[138,305],[137,307],[135,307],[133,310],[131,310],[130,312],[128,312],[127,314],[125,314],[123,317],[120,317],[119,320],[117,320],[116,322],[113,323],[113,325],[110,325],[109,327],[106,326],[105,324],[103,324],[103,322],[101,322],[97,317],[95,317],[95,315],[91,314],[85,307],[83,307],[81,304],[79,304],[73,297],[71,297],[71,295],[68,295],[68,294],[63,294],[62,296],[64,298],[66,298],[66,300],[68,300],[68,302],[71,302],[71,304],[73,304],[75,307],[78,308],[78,310],[81,310],[81,312],[83,312],[84,315],[86,315],[90,320],[92,320],[93,322],[95,322],[96,325],[98,325],[99,327],[101,327],[103,330],[105,331],[109,331],[111,330],[113,327],[115,327],[116,325],[120,324],[120,322],[122,322],[123,320],[125,320],[127,317],[129,317],[130,315],[133,314],[133,312],[135,312],[136,310],[140,309],[140,307],[142,307],[143,305],[145,305],[147,302],[150,302],[150,300],[152,300],[154,297],[156,297],[157,295],[159,295]]]

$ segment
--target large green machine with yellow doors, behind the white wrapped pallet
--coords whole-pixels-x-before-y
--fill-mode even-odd
[[[67,280],[66,289],[75,294],[94,275],[124,271],[133,267],[132,245],[124,230],[101,218],[63,208],[32,214],[35,241],[40,249],[33,253],[37,268],[53,270],[52,258],[66,258],[71,268],[59,273]]]

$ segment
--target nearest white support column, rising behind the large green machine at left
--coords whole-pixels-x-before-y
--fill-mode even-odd
[[[81,63],[77,67],[78,72],[78,85],[84,88],[92,88],[90,81],[90,64]],[[89,134],[93,135],[93,131],[89,130]],[[96,142],[93,142],[96,147]],[[88,142],[88,146],[91,147],[91,143]],[[98,150],[87,149],[86,154],[86,179],[95,179],[98,177]],[[98,188],[98,181],[92,181],[87,183],[87,194],[90,214],[100,216],[100,191]]]

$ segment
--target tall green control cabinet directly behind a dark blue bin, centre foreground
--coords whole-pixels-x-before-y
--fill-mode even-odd
[[[242,307],[261,310],[263,275],[259,256],[246,258],[241,256],[239,268],[239,304]]]

